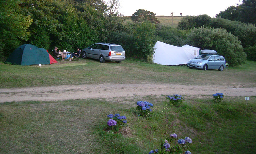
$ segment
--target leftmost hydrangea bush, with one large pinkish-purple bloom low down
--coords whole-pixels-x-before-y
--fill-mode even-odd
[[[110,118],[107,121],[107,128],[115,133],[122,129],[123,126],[127,125],[127,118],[124,115],[120,116],[120,114],[109,114],[107,117]]]

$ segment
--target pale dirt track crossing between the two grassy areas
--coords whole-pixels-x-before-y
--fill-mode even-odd
[[[55,101],[69,99],[134,97],[147,95],[212,95],[223,93],[225,96],[255,96],[256,87],[231,88],[225,86],[187,86],[176,84],[100,84],[72,85],[33,88],[2,88],[0,102],[12,101]]]

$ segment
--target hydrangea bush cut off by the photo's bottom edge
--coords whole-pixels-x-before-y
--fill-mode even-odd
[[[161,149],[151,150],[149,154],[153,154],[153,153],[191,154],[191,152],[187,150],[188,148],[187,144],[192,143],[191,138],[185,137],[184,139],[178,139],[177,134],[173,133],[173,134],[170,134],[169,140],[170,140],[170,143],[168,142],[168,140],[164,140],[164,142],[161,144]],[[174,142],[172,142],[173,140]]]

